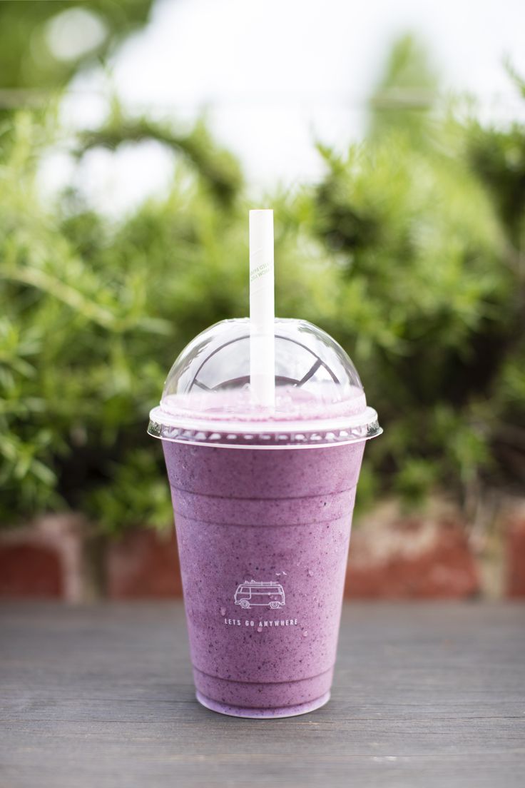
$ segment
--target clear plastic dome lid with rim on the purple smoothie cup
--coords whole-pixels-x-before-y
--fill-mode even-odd
[[[163,440],[305,446],[367,440],[382,430],[342,347],[316,325],[275,319],[275,405],[250,388],[250,321],[223,320],[169,371],[148,432]]]

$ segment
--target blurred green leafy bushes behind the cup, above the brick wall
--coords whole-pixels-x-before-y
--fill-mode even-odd
[[[525,479],[525,129],[460,121],[434,95],[401,40],[364,142],[320,146],[320,184],[265,201],[279,314],[341,342],[385,428],[361,504]],[[115,224],[72,189],[43,203],[35,177],[55,133],[19,113],[0,154],[0,518],[67,505],[105,533],[165,526],[147,414],[187,341],[246,314],[242,176],[203,125],[180,134],[116,108],[79,136],[79,157],[157,139],[177,166],[168,197]]]

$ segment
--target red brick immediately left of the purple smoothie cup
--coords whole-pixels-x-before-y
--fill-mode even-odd
[[[179,558],[173,530],[134,530],[109,545],[107,590],[112,599],[179,597]]]

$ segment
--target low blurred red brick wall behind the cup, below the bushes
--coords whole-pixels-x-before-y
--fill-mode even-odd
[[[50,515],[0,532],[0,597],[76,603],[182,593],[176,538],[136,530],[98,541],[80,515]],[[484,532],[435,500],[407,515],[395,501],[354,526],[346,595],[361,599],[525,598],[525,501],[507,501]]]

